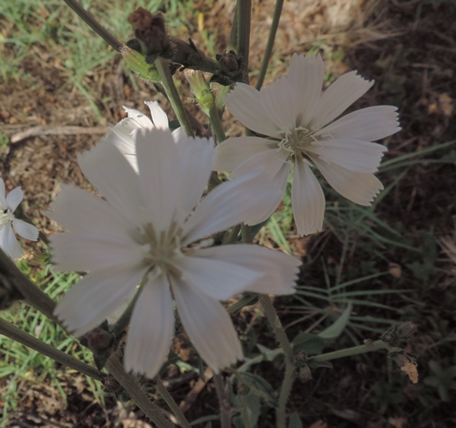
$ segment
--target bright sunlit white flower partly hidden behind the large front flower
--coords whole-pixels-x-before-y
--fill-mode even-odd
[[[138,162],[136,161],[135,137],[138,130],[169,129],[168,117],[161,109],[160,104],[157,101],[144,101],[144,104],[149,107],[151,120],[142,111],[123,106],[129,117],[120,120],[116,126],[108,131],[110,140],[130,162],[136,172],[138,172]],[[172,137],[175,141],[179,141],[182,138],[185,139],[186,136],[182,127],[172,131]]]

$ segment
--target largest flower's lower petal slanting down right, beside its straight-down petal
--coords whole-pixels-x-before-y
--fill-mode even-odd
[[[171,281],[183,328],[212,371],[217,373],[244,359],[233,322],[223,306],[177,278]]]

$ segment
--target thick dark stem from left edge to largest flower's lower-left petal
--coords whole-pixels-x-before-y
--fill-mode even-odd
[[[0,250],[0,281],[5,286],[16,289],[26,303],[38,309],[47,318],[57,322],[57,318],[53,314],[56,302],[36,287],[2,250]]]

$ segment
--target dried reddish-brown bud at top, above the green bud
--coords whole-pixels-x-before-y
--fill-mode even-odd
[[[133,27],[136,39],[140,42],[144,57],[172,56],[165,18],[161,14],[153,15],[143,7],[138,7],[131,12],[128,21]]]

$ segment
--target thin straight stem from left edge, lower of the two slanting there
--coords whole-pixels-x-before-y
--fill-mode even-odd
[[[26,333],[25,331],[17,329],[17,327],[5,321],[3,318],[0,318],[0,334],[3,334],[9,339],[16,340],[16,342],[22,343],[27,348],[37,350],[39,353],[46,355],[53,360],[56,360],[60,364],[63,364],[64,366],[67,366],[76,371],[80,371],[81,373],[90,376],[97,381],[103,381],[106,377],[105,373],[98,371],[85,362],[79,361],[76,358],[67,355],[61,350],[57,350],[53,346],[48,345],[40,339],[34,338],[32,335]]]

